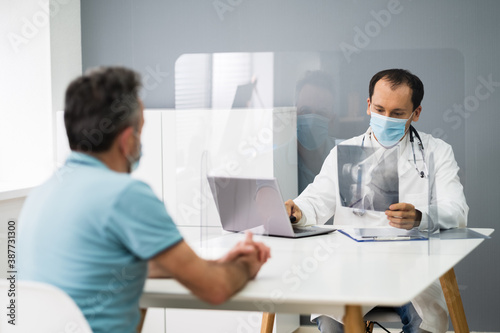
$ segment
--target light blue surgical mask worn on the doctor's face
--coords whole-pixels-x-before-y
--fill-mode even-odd
[[[384,148],[392,148],[406,134],[406,123],[413,117],[413,112],[408,119],[390,118],[371,113],[370,127],[372,128],[377,141]]]

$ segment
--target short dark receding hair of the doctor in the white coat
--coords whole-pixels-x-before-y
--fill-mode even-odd
[[[375,84],[381,79],[389,81],[392,84],[391,88],[393,89],[402,84],[408,85],[412,91],[411,101],[413,103],[413,110],[420,106],[420,103],[424,98],[424,84],[420,81],[418,76],[411,73],[409,70],[398,68],[380,71],[372,77],[368,88],[370,101],[372,100]]]

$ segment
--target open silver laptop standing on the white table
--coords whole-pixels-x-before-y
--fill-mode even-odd
[[[207,176],[222,228],[257,235],[301,238],[327,234],[332,228],[293,227],[275,178]]]

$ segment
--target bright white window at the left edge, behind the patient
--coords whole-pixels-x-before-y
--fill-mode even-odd
[[[52,171],[49,16],[38,1],[0,3],[0,191]]]

